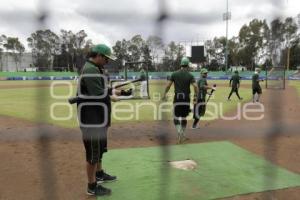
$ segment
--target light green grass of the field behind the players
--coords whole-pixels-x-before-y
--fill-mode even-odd
[[[52,91],[57,96],[66,96],[62,99],[55,99],[51,96],[50,87],[35,87],[37,84],[47,85],[49,83],[74,83],[74,81],[3,81],[1,85],[32,85],[29,88],[8,88],[0,89],[0,114],[12,116],[16,118],[26,119],[33,122],[43,122],[53,125],[58,125],[62,127],[78,127],[77,124],[77,114],[76,106],[70,106],[67,103],[67,96],[69,94],[75,94],[75,85],[71,87],[65,86],[53,86]],[[228,84],[228,81],[208,81],[209,84],[217,83]],[[243,84],[249,84],[245,81]],[[160,101],[156,100],[157,96],[164,91],[165,81],[151,81],[150,82],[150,93],[151,100],[122,100],[120,102],[113,103],[113,111],[118,110],[118,112],[113,113],[113,122],[141,122],[141,121],[153,121],[159,119],[157,116],[159,112],[155,113],[155,105],[159,105]],[[173,89],[169,92],[172,94]],[[223,113],[228,113],[236,109],[239,101],[235,94],[232,96],[232,101],[227,102],[227,95],[230,92],[229,87],[218,87],[215,92],[214,97],[210,102],[216,102],[217,106],[222,107]],[[42,94],[42,96],[41,96]],[[250,88],[241,88],[240,94],[244,97],[244,102],[251,98]],[[156,96],[156,98],[155,98]],[[170,106],[166,106],[171,110],[172,97],[169,98]],[[39,105],[39,106],[38,106]],[[51,106],[53,108],[54,116],[59,119],[53,119],[51,117]],[[120,109],[127,109],[127,112],[119,112]],[[132,109],[128,112],[128,109]],[[212,106],[208,107],[208,111],[214,110]],[[43,117],[40,117],[39,113],[43,113]],[[69,119],[62,119],[67,118]],[[171,119],[171,112],[163,115],[163,120]],[[128,118],[131,117],[131,118]],[[191,115],[190,115],[191,117]],[[125,118],[127,118],[125,120]],[[218,118],[217,115],[214,116],[215,119]]]

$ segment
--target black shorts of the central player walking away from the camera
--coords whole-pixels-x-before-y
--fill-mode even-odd
[[[191,112],[189,98],[174,98],[173,110],[175,117],[187,117]]]

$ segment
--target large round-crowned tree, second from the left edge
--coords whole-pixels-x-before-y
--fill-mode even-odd
[[[51,30],[38,30],[27,38],[28,46],[32,50],[34,65],[39,70],[51,70],[52,59],[59,53],[59,37]]]

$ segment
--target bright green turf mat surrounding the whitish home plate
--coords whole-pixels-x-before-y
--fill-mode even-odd
[[[192,159],[197,168],[171,168],[160,147],[111,150],[105,157],[105,166],[118,176],[118,181],[105,183],[112,195],[99,200],[207,200],[300,186],[298,174],[230,142],[167,149],[170,161]]]

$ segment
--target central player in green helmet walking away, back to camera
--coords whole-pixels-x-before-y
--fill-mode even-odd
[[[166,99],[166,94],[170,90],[170,87],[174,83],[174,111],[173,118],[174,124],[177,130],[177,142],[182,143],[186,139],[184,131],[186,129],[187,120],[186,117],[190,113],[190,85],[194,87],[194,93],[197,98],[198,87],[195,83],[194,76],[188,71],[189,59],[184,57],[181,59],[180,69],[172,73],[170,80],[168,80],[165,92],[163,94],[163,100]]]

